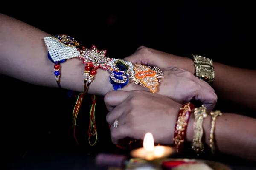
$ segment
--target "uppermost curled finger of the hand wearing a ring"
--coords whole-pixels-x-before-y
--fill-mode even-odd
[[[104,102],[108,111],[112,111],[113,108],[129,97],[129,91],[110,91],[105,94]]]

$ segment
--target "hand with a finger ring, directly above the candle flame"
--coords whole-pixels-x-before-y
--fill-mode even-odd
[[[151,132],[154,141],[172,144],[177,113],[181,104],[166,96],[146,91],[111,91],[105,95],[105,104],[110,111],[106,117],[111,125],[114,144],[122,139],[143,139]],[[113,127],[118,119],[118,127]]]

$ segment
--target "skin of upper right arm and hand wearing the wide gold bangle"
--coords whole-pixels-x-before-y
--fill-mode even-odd
[[[131,55],[128,57],[130,62],[143,62],[158,68],[175,66],[195,74],[195,64],[188,57],[180,57],[143,46],[138,48],[137,52],[139,51],[142,51],[140,58]],[[215,69],[213,88],[218,98],[256,110],[256,70],[231,67],[218,62],[214,62],[213,66]]]

